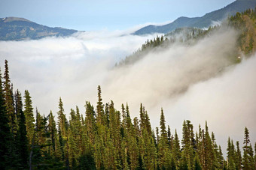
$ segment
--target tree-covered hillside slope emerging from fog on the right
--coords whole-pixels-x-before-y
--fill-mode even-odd
[[[249,56],[256,51],[256,8],[254,10],[245,10],[242,13],[236,13],[230,16],[227,22],[219,26],[209,27],[207,30],[200,28],[176,28],[174,31],[165,34],[164,37],[156,37],[154,40],[148,40],[142,44],[141,49],[133,52],[132,55],[123,58],[116,67],[134,64],[136,61],[144,58],[148,52],[161,51],[163,48],[172,46],[174,43],[183,43],[184,45],[193,45],[203,37],[211,36],[213,31],[221,27],[232,27],[239,32],[237,39],[236,56],[230,58],[232,63],[239,62],[240,55]]]

